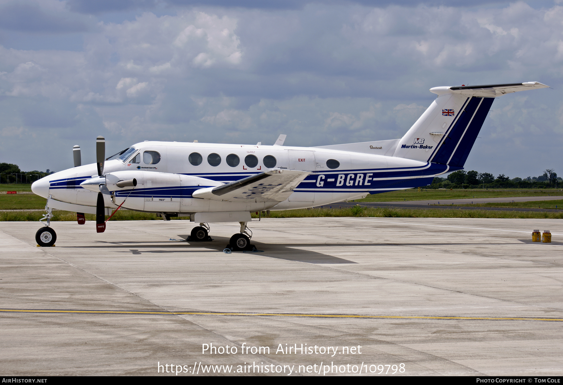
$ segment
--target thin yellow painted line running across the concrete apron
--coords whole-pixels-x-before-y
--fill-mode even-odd
[[[147,314],[147,315],[215,315],[215,316],[259,316],[259,317],[307,317],[307,318],[364,318],[364,319],[436,319],[436,320],[489,320],[489,321],[555,321],[563,318],[546,317],[478,317],[454,315],[361,315],[361,314],[306,314],[306,313],[251,313],[215,311],[121,311],[121,310],[62,310],[62,309],[0,309],[11,313],[46,314]]]

